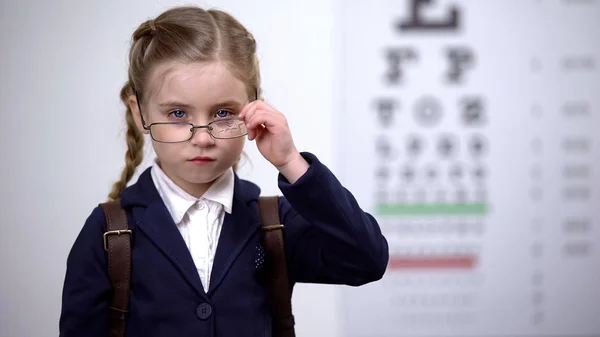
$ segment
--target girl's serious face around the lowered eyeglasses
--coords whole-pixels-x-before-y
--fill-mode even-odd
[[[248,103],[245,84],[220,62],[168,62],[149,76],[141,102],[146,126],[159,122],[187,122],[196,126],[236,117]],[[145,133],[135,97],[130,107]],[[152,141],[160,167],[179,187],[200,197],[212,182],[240,157],[244,137],[215,139],[206,128],[195,129],[185,142]],[[153,131],[154,132],[154,131]]]

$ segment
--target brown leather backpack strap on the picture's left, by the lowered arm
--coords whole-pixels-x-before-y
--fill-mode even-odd
[[[131,286],[131,230],[120,200],[100,204],[106,217],[104,249],[108,252],[108,277],[113,286],[110,337],[124,337]]]

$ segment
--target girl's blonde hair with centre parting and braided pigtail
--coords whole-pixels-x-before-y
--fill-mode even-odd
[[[219,10],[182,6],[142,23],[132,36],[128,81],[121,89],[121,100],[126,107],[127,152],[121,178],[114,183],[108,196],[110,200],[117,199],[123,192],[144,157],[144,137],[135,124],[129,97],[137,92],[143,101],[150,71],[157,64],[168,61],[220,61],[246,84],[249,98],[261,93],[256,42],[231,15]],[[236,166],[237,163],[234,169]]]

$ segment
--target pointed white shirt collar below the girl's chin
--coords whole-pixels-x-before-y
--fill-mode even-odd
[[[173,221],[178,224],[188,209],[198,200],[210,200],[223,206],[227,213],[231,213],[233,204],[234,174],[229,168],[208,188],[201,198],[196,198],[177,186],[171,178],[160,168],[158,159],[152,162],[150,171],[154,186],[169,210]]]

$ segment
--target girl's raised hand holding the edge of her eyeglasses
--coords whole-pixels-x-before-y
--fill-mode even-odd
[[[285,116],[263,100],[246,105],[240,112],[248,128],[248,140],[256,140],[260,153],[290,183],[300,178],[309,164],[300,155]]]

